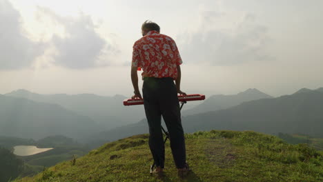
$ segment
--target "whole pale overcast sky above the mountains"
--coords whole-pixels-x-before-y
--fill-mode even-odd
[[[0,94],[130,97],[147,19],[177,42],[188,94],[320,88],[322,10],[321,0],[0,0]]]

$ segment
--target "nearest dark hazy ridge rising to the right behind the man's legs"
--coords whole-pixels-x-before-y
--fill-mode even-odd
[[[254,130],[269,134],[299,132],[323,138],[322,110],[323,92],[311,91],[248,101],[225,110],[189,115],[182,117],[182,123],[185,132]],[[146,119],[139,123],[101,132],[98,137],[113,141],[143,133],[148,133]]]

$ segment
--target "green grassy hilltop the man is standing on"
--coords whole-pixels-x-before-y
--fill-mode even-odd
[[[188,163],[193,169],[183,181],[323,181],[323,153],[306,144],[291,145],[257,132],[218,131],[186,134]],[[47,168],[34,177],[16,180],[44,182],[181,181],[169,142],[166,176],[149,174],[153,159],[148,135],[106,143],[86,156]]]

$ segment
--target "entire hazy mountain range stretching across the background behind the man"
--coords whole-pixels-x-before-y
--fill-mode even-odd
[[[32,139],[61,134],[95,146],[148,133],[142,105],[126,107],[122,105],[124,99],[121,95],[44,95],[17,90],[0,95],[0,132]],[[182,123],[186,132],[255,130],[321,137],[322,110],[323,88],[301,89],[277,98],[248,89],[235,95],[207,97],[195,108],[182,112]]]

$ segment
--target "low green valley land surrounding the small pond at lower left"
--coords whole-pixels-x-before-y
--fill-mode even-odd
[[[54,149],[30,156],[17,156],[14,155],[14,146],[16,145],[35,145],[38,148]],[[6,149],[10,151],[10,154],[14,156],[14,160],[21,161],[21,166],[15,170],[16,174],[11,173],[12,176],[32,176],[41,172],[44,166],[49,167],[55,165],[59,162],[69,160],[73,156],[84,156],[90,151],[88,145],[77,143],[73,139],[60,135],[48,136],[46,138],[39,139],[38,141],[32,139],[0,136],[0,150],[1,148],[3,148],[3,150]],[[2,154],[0,156],[0,161],[1,160],[8,162],[6,163],[7,167],[3,167],[2,165],[1,168],[8,168],[10,161],[13,159],[10,159],[10,155],[8,154]],[[4,180],[4,182],[8,182],[10,176],[7,175],[5,179],[7,180]],[[2,181],[0,177],[0,182]]]

